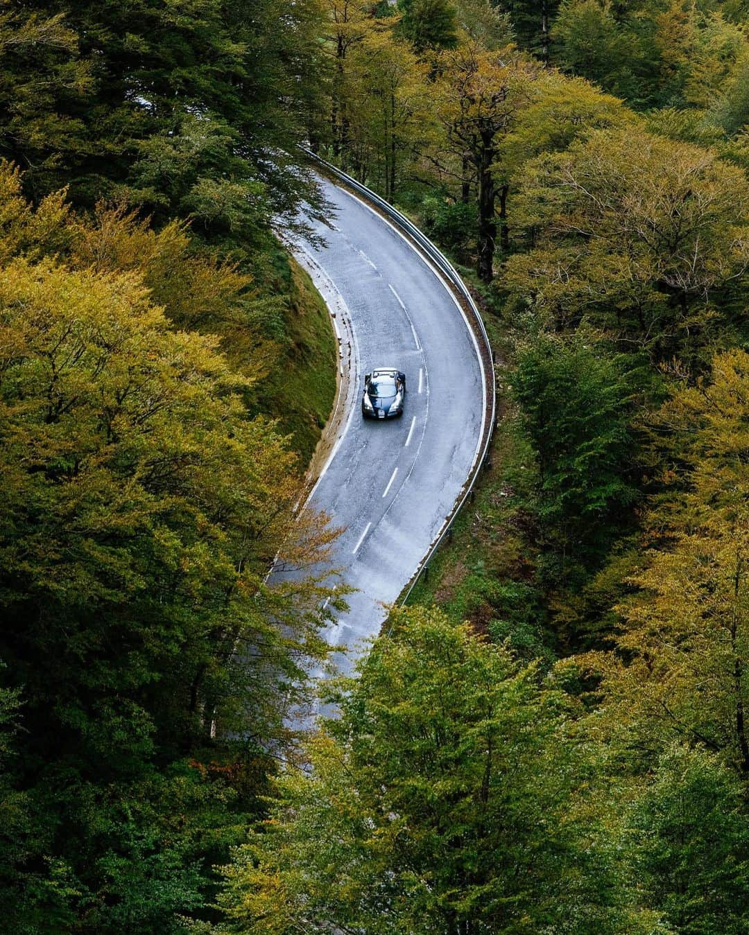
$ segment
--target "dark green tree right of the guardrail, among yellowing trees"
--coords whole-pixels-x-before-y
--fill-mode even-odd
[[[538,458],[538,516],[551,583],[595,568],[621,535],[632,503],[636,381],[595,335],[541,335],[519,356],[513,396]]]

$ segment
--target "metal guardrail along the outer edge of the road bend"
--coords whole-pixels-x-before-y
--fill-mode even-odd
[[[434,554],[439,549],[439,546],[442,544],[444,539],[447,537],[450,529],[454,523],[454,519],[457,514],[460,512],[464,504],[468,501],[473,487],[476,483],[476,479],[479,476],[479,472],[483,467],[483,463],[486,459],[486,453],[489,451],[489,444],[492,440],[492,434],[494,432],[494,424],[496,417],[496,381],[495,381],[495,371],[494,371],[494,355],[492,353],[492,346],[489,343],[489,336],[486,334],[486,328],[483,324],[483,319],[479,309],[476,306],[476,303],[473,301],[473,296],[468,292],[466,284],[461,280],[460,276],[457,273],[457,270],[454,268],[453,264],[448,260],[448,258],[438,250],[437,247],[432,243],[432,241],[425,237],[425,235],[419,230],[419,228],[409,221],[405,214],[401,214],[399,210],[394,208],[389,202],[385,201],[379,194],[373,192],[371,189],[367,188],[366,185],[363,185],[360,181],[353,179],[350,175],[347,175],[337,165],[327,162],[321,156],[318,156],[317,153],[312,152],[311,150],[304,150],[310,159],[319,165],[323,165],[324,168],[336,176],[338,179],[345,182],[349,188],[353,188],[358,194],[362,194],[367,201],[371,202],[378,209],[382,211],[391,221],[394,221],[401,230],[405,231],[406,234],[411,237],[411,239],[421,248],[422,252],[438,267],[439,272],[444,276],[444,278],[453,286],[454,291],[460,295],[464,302],[468,305],[471,314],[475,320],[475,324],[478,327],[478,337],[482,339],[485,351],[485,357],[479,353],[479,360],[482,366],[483,378],[484,378],[484,387],[486,392],[486,402],[487,402],[487,414],[488,419],[485,420],[483,424],[483,444],[481,446],[480,452],[476,457],[476,460],[473,463],[473,468],[468,476],[468,481],[464,485],[463,492],[457,500],[453,510],[450,515],[445,520],[442,528],[439,530],[439,535],[432,544],[429,546],[428,552],[419,562],[418,568],[414,571],[411,576],[411,581],[406,585],[405,594],[401,597],[401,604],[405,604],[406,601],[411,596],[411,591],[413,590],[415,584],[418,582],[421,577],[422,572],[428,566]],[[468,327],[470,325],[468,324]]]

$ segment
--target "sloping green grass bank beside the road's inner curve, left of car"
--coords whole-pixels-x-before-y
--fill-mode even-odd
[[[306,467],[333,408],[338,350],[323,298],[301,266],[291,257],[288,262],[287,341],[262,381],[257,405],[293,436]]]

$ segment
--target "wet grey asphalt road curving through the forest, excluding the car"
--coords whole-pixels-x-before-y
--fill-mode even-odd
[[[328,303],[352,380],[342,431],[310,506],[345,527],[332,565],[357,590],[327,639],[348,646],[349,671],[376,636],[385,606],[409,582],[465,484],[482,437],[485,389],[475,338],[453,293],[408,240],[358,198],[324,180],[332,226],[324,247],[300,243]],[[362,418],[364,374],[406,374],[405,411]]]

